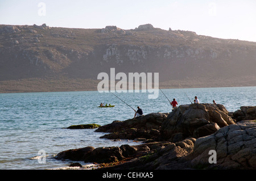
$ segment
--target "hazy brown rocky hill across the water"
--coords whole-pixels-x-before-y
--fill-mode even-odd
[[[256,43],[141,25],[0,25],[0,92],[96,90],[101,72],[159,73],[160,86],[256,86]]]

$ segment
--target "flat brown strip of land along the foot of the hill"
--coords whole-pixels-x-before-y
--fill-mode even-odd
[[[27,78],[0,81],[0,93],[18,92],[63,92],[63,91],[97,91],[100,80],[79,78]],[[209,87],[252,87],[256,86],[256,77],[229,79],[193,78],[159,82],[160,89],[209,88]],[[154,87],[154,85],[152,86]]]

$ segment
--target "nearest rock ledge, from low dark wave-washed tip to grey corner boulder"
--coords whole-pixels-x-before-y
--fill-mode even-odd
[[[216,163],[209,162],[210,150],[216,151]],[[56,158],[115,165],[102,169],[256,169],[256,121],[240,121],[197,140],[88,146],[62,151]]]

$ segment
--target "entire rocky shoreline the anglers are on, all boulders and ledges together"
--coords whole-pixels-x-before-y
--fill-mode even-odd
[[[55,158],[109,170],[256,169],[256,106],[228,112],[221,104],[187,104],[170,113],[113,121],[96,132],[143,142],[65,150]]]

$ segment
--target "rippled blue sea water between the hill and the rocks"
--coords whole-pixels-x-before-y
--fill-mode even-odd
[[[241,106],[256,106],[256,87],[221,87],[200,89],[163,89],[168,99],[179,105],[190,104],[197,96],[200,103],[223,104],[230,112]],[[170,112],[170,103],[159,91],[157,99],[148,99],[149,92],[117,93],[134,109],[140,106],[144,114]],[[98,108],[100,103],[113,108]],[[70,125],[96,123],[105,125],[114,120],[126,120],[134,111],[110,93],[34,92],[0,94],[0,169],[56,169],[71,161],[53,158],[60,151],[93,146],[138,144],[133,141],[113,141],[100,138],[105,133],[95,129],[64,129]],[[45,151],[45,162],[37,159]]]

